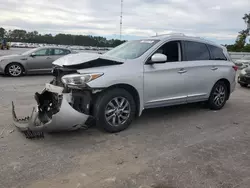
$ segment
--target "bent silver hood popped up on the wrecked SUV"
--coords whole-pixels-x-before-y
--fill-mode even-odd
[[[60,67],[90,68],[91,66],[105,66],[106,64],[122,64],[124,60],[107,57],[96,53],[76,53],[63,56],[53,62],[53,65]],[[88,63],[88,65],[87,65]],[[86,65],[83,65],[86,64]],[[98,64],[98,65],[97,65]],[[85,67],[87,66],[87,67]]]

